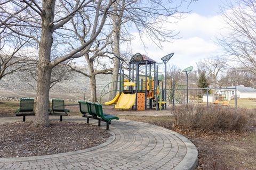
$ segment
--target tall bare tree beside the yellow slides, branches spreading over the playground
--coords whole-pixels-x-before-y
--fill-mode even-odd
[[[180,1],[182,2],[182,0]],[[190,1],[193,2],[193,1]],[[151,39],[155,44],[161,46],[161,42],[173,39],[177,33],[172,29],[163,28],[164,23],[168,23],[169,16],[175,17],[174,14],[180,14],[178,11],[179,6],[175,6],[170,1],[156,1],[149,0],[133,1],[133,0],[117,0],[114,5],[113,15],[111,15],[113,25],[113,39],[114,39],[114,71],[112,76],[113,83],[112,91],[109,99],[115,97],[116,92],[114,89],[117,87],[119,60],[120,60],[120,37],[121,33],[129,35],[128,27],[133,26],[137,29],[139,36],[146,36]],[[169,22],[170,23],[170,22]],[[142,40],[143,43],[143,40]]]

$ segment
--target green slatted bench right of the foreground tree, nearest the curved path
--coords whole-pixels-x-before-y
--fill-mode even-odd
[[[100,104],[89,103],[87,101],[78,101],[78,103],[80,112],[83,114],[83,117],[87,118],[87,123],[89,123],[89,118],[98,120],[98,126],[100,126],[100,122],[103,121],[107,123],[106,129],[108,130],[111,120],[119,120],[119,118],[114,115],[103,113],[103,109]]]

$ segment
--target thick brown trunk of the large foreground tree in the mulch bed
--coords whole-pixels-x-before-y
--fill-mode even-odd
[[[44,128],[49,126],[49,91],[51,80],[51,48],[53,43],[53,31],[51,30],[51,23],[54,19],[54,4],[55,1],[45,1],[43,3],[43,10],[45,15],[42,16],[42,34],[39,44],[39,61],[37,65],[37,93],[36,93],[36,107],[35,120],[32,126]]]

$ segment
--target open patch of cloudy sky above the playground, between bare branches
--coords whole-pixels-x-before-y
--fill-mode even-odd
[[[221,47],[216,43],[220,33],[224,33],[225,23],[220,14],[221,0],[198,0],[196,3],[183,5],[183,10],[190,11],[177,23],[169,25],[179,31],[179,39],[172,43],[165,42],[162,49],[151,40],[143,37],[147,48],[143,47],[139,38],[132,40],[132,53],[141,53],[161,62],[161,57],[174,53],[168,64],[178,65],[181,69],[189,66],[196,68],[196,62],[220,55]],[[165,25],[166,26],[166,25]],[[168,26],[168,25],[167,25]],[[139,37],[138,33],[133,33]],[[122,47],[121,47],[122,49]]]

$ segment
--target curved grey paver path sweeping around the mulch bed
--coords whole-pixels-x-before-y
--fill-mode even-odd
[[[127,120],[113,121],[109,128],[113,135],[100,146],[48,156],[0,158],[0,169],[195,169],[196,147],[176,132]]]

